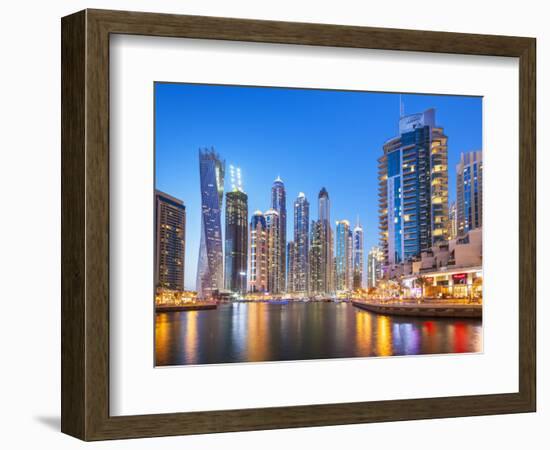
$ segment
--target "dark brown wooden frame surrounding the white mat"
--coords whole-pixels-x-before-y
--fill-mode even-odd
[[[61,25],[64,433],[101,440],[535,411],[535,39],[104,10]],[[110,416],[109,36],[117,33],[519,58],[519,391]]]

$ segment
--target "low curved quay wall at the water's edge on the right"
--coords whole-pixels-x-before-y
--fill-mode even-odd
[[[352,304],[357,308],[378,314],[390,314],[396,316],[421,316],[421,317],[456,317],[476,318],[482,316],[480,304],[452,304],[452,303],[371,303],[361,300],[353,300]]]

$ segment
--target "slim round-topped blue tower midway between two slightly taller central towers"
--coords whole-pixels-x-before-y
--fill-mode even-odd
[[[309,290],[309,202],[303,192],[294,202],[294,292]]]

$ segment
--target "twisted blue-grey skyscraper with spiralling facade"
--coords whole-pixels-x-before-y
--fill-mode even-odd
[[[214,149],[199,149],[201,184],[201,241],[197,268],[199,298],[223,287],[222,202],[225,161]]]

